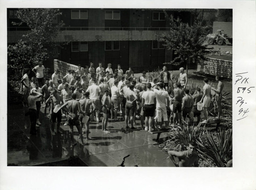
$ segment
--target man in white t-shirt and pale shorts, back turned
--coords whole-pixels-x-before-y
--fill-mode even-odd
[[[162,128],[162,117],[163,121],[165,123],[165,127],[168,126],[168,116],[167,116],[167,110],[166,105],[169,105],[169,95],[168,92],[163,89],[163,83],[158,83],[158,89],[154,89],[154,92],[156,94],[156,110],[157,110],[157,122],[160,125],[160,128]],[[167,103],[167,104],[166,104]]]

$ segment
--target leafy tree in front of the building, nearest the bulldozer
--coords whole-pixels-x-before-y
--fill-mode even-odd
[[[174,60],[165,64],[180,65],[186,63],[186,71],[189,58],[193,62],[197,62],[199,59],[205,60],[204,55],[207,54],[208,50],[207,44],[204,44],[208,29],[202,23],[203,11],[194,10],[191,11],[191,14],[194,17],[194,23],[189,26],[188,23],[182,22],[179,17],[174,18],[173,15],[167,15],[165,12],[172,28],[168,33],[159,36],[160,41],[164,42],[164,46],[177,55]]]

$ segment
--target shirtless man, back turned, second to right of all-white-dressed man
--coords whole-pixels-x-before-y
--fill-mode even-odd
[[[185,91],[185,97],[182,98],[182,116],[183,116],[183,120],[186,120],[186,116],[189,118],[189,112],[193,109],[193,98],[190,96],[189,94],[189,90],[188,89],[184,89]]]

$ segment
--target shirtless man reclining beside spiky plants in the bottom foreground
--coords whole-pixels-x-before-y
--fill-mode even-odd
[[[188,142],[186,151],[168,151],[170,159],[173,161],[176,167],[199,167],[198,154],[195,152],[196,144],[194,142]],[[179,158],[179,162],[176,163],[174,156]]]

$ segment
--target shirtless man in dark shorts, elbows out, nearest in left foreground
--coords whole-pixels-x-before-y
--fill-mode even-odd
[[[72,93],[71,95],[71,100],[66,102],[65,104],[63,104],[61,106],[65,107],[66,105],[68,105],[68,110],[69,110],[69,114],[68,114],[68,125],[69,125],[69,132],[70,132],[70,137],[71,137],[71,143],[72,146],[74,147],[77,143],[74,142],[74,134],[73,134],[73,127],[76,126],[77,131],[79,132],[80,135],[80,139],[81,139],[81,145],[83,144],[83,137],[82,137],[82,129],[80,127],[80,123],[79,123],[79,114],[85,114],[81,108],[80,108],[80,104],[79,102],[76,100],[76,94]]]

